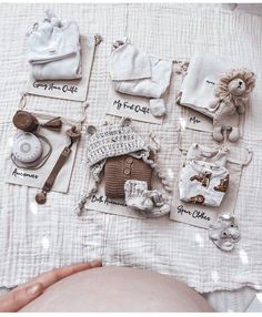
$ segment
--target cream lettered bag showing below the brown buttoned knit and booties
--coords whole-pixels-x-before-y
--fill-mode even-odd
[[[99,185],[99,191],[87,202],[87,209],[103,212],[132,218],[144,218],[138,211],[125,205],[124,200],[109,198],[104,194],[104,181]]]

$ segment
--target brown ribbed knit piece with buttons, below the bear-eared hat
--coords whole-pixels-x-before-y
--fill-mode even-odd
[[[124,198],[124,183],[128,180],[144,181],[150,190],[152,168],[142,160],[120,155],[107,160],[104,166],[105,195]]]

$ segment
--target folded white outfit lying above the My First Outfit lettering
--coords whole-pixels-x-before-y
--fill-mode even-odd
[[[149,55],[130,43],[115,41],[110,54],[110,75],[118,92],[145,96],[153,115],[165,113],[163,95],[170,85],[172,60]]]

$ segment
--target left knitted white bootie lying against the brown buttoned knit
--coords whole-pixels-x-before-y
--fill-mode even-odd
[[[148,183],[129,180],[124,183],[125,204],[139,211],[151,211],[153,202],[149,197]]]

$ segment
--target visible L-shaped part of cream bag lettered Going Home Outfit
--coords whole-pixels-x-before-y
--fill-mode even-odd
[[[94,39],[81,37],[82,78],[77,80],[34,80],[30,75],[27,92],[36,95],[85,101],[91,74]]]

